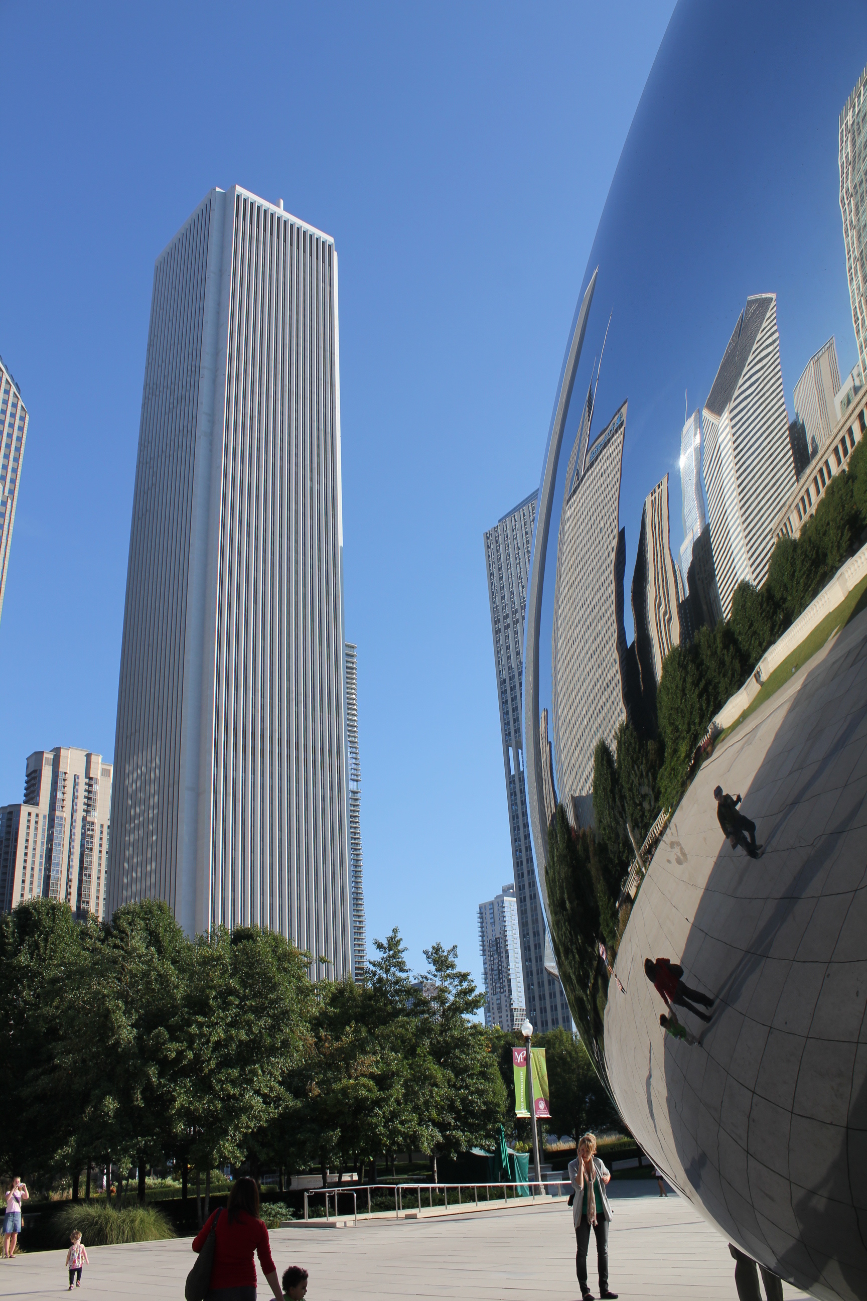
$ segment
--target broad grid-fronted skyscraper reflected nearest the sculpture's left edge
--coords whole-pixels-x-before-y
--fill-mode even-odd
[[[603,738],[614,748],[617,727],[627,719],[627,540],[619,527],[627,403],[590,446],[585,424],[567,467],[551,647],[559,796],[569,818],[582,826],[593,821],[597,743]]]

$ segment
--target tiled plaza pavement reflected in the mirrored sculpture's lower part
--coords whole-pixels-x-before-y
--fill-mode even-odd
[[[714,787],[764,844],[733,851]],[[867,613],[699,770],[641,886],[606,1060],[638,1142],[721,1231],[819,1296],[867,1294]],[[663,1037],[646,956],[719,998]],[[862,1233],[864,1237],[862,1237]]]

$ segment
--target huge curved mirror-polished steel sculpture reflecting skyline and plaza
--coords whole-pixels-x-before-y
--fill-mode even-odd
[[[524,652],[581,1037],[685,1196],[829,1298],[867,1296],[867,614],[695,745],[767,645],[750,628],[828,580],[805,596],[801,524],[831,572],[863,543],[812,516],[867,431],[866,17],[677,5],[567,341]]]

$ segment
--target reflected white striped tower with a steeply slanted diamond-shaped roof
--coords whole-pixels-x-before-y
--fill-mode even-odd
[[[738,583],[760,587],[773,523],[796,477],[783,396],[776,294],[747,298],[702,412],[705,488],[725,618]]]

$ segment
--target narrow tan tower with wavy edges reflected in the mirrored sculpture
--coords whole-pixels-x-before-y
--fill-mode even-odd
[[[663,660],[672,647],[680,645],[679,611],[684,596],[680,570],[671,554],[666,475],[645,500],[632,579],[632,618],[636,626],[641,693],[645,699],[649,693],[655,696]]]

